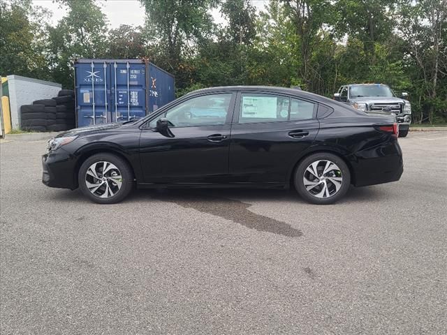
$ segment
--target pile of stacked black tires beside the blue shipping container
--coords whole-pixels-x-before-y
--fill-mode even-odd
[[[57,97],[20,107],[24,131],[67,131],[75,128],[75,92],[62,89]]]

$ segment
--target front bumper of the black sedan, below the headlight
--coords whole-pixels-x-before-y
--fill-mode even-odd
[[[55,188],[78,188],[75,176],[75,159],[64,149],[57,149],[42,156],[42,182]]]

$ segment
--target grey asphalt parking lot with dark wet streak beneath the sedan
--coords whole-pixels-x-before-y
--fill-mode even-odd
[[[41,184],[45,141],[0,144],[1,334],[446,334],[447,132],[335,205],[292,191]]]

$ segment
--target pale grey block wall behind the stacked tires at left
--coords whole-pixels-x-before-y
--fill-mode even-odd
[[[13,129],[20,128],[20,106],[57,96],[62,85],[20,75],[8,75],[9,105]]]

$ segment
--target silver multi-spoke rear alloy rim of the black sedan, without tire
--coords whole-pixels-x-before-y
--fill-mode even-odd
[[[316,198],[330,198],[342,187],[342,170],[328,160],[314,161],[303,176],[305,188]]]

